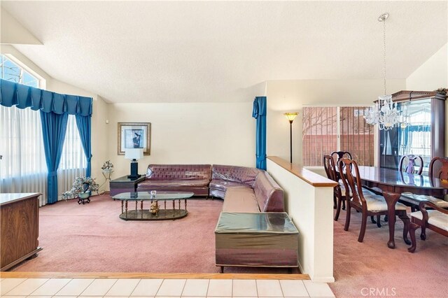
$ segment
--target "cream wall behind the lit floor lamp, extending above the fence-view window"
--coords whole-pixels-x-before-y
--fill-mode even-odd
[[[405,90],[405,80],[387,80],[388,93]],[[293,122],[293,163],[302,164],[304,105],[371,105],[384,93],[383,80],[274,80],[267,82],[267,155],[289,160],[289,122]]]

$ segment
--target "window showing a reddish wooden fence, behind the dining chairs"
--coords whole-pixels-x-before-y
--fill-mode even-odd
[[[323,166],[323,155],[348,151],[360,166],[374,164],[374,127],[364,120],[364,106],[304,107],[302,164]]]

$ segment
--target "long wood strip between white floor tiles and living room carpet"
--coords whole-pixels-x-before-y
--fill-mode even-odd
[[[1,272],[1,278],[186,278],[309,280],[308,274],[151,274],[127,272]]]

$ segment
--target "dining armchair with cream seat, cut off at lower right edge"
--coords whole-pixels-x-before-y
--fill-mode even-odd
[[[431,210],[427,210],[429,207]],[[409,253],[414,253],[416,249],[415,230],[421,227],[421,240],[426,240],[426,229],[448,237],[448,210],[440,208],[430,201],[421,201],[420,211],[411,213],[411,223],[409,225],[409,235],[411,236],[412,246],[407,248]]]

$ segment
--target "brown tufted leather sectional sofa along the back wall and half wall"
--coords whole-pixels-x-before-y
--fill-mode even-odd
[[[269,173],[246,166],[150,164],[137,191],[185,191],[224,199],[225,212],[283,212],[283,190]]]

